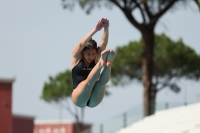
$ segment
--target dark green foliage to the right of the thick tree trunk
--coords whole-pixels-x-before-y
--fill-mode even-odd
[[[155,43],[155,77],[199,79],[200,56],[192,48],[186,46],[182,39],[172,41],[162,34],[156,35]]]

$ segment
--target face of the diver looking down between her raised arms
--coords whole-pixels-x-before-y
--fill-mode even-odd
[[[83,51],[83,58],[85,59],[85,63],[90,64],[96,57],[96,49],[87,49]]]

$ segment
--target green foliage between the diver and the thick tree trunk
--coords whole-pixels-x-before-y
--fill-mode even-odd
[[[128,45],[117,47],[117,56],[113,61],[111,81],[114,85],[126,84],[129,80],[141,80],[142,45],[140,42],[130,42]]]

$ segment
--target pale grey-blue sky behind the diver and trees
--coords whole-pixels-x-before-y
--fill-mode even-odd
[[[156,32],[183,41],[200,54],[200,13],[197,7],[168,12],[159,21]],[[59,119],[59,108],[40,100],[48,77],[70,69],[71,51],[79,40],[102,18],[110,20],[109,49],[138,40],[140,33],[119,9],[95,9],[86,15],[78,6],[63,10],[61,0],[0,0],[0,77],[15,78],[13,113],[34,116],[37,120]],[[102,31],[94,35],[100,41]],[[162,91],[158,102],[196,102],[200,83],[184,81],[183,91]],[[142,85],[111,88],[110,97],[96,108],[85,110],[85,121],[98,123],[142,103]],[[123,100],[122,100],[123,99]],[[95,118],[95,119],[94,119]],[[73,119],[63,110],[63,119]]]

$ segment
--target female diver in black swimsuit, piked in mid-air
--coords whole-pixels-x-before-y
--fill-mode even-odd
[[[102,40],[97,47],[92,36],[104,28]],[[108,43],[109,20],[102,18],[78,43],[72,52],[72,101],[78,107],[95,107],[103,99],[109,81],[111,65],[116,53],[105,50]],[[101,71],[101,69],[103,69]]]

